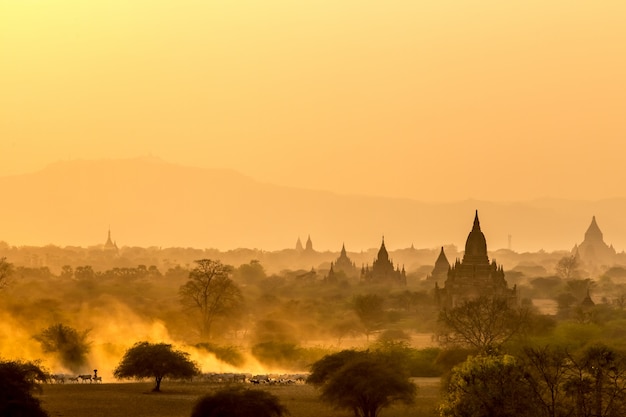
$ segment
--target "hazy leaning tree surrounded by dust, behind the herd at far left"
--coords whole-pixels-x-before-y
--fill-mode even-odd
[[[74,372],[78,372],[87,363],[89,330],[78,330],[57,323],[42,330],[34,338],[46,353],[58,354],[61,363]]]

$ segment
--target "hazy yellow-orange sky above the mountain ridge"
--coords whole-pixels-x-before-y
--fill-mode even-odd
[[[421,200],[626,196],[626,2],[0,0],[0,175],[152,155]]]

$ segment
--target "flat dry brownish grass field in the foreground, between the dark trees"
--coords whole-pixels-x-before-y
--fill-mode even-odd
[[[439,380],[417,378],[418,397],[411,406],[396,405],[383,410],[382,417],[434,417],[439,398]],[[113,384],[45,385],[39,395],[51,417],[188,417],[202,395],[222,385],[164,381],[160,393],[151,391],[149,382]],[[291,417],[350,417],[352,413],[334,410],[318,398],[310,385],[249,386],[280,398]]]

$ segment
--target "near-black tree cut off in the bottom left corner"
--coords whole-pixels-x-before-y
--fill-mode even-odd
[[[33,396],[47,374],[32,362],[0,362],[0,416],[47,417],[41,403]]]

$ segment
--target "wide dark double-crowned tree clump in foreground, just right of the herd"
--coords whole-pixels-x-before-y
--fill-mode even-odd
[[[355,417],[376,417],[395,402],[411,403],[417,387],[401,361],[382,353],[342,351],[314,363],[307,382],[322,399]]]

